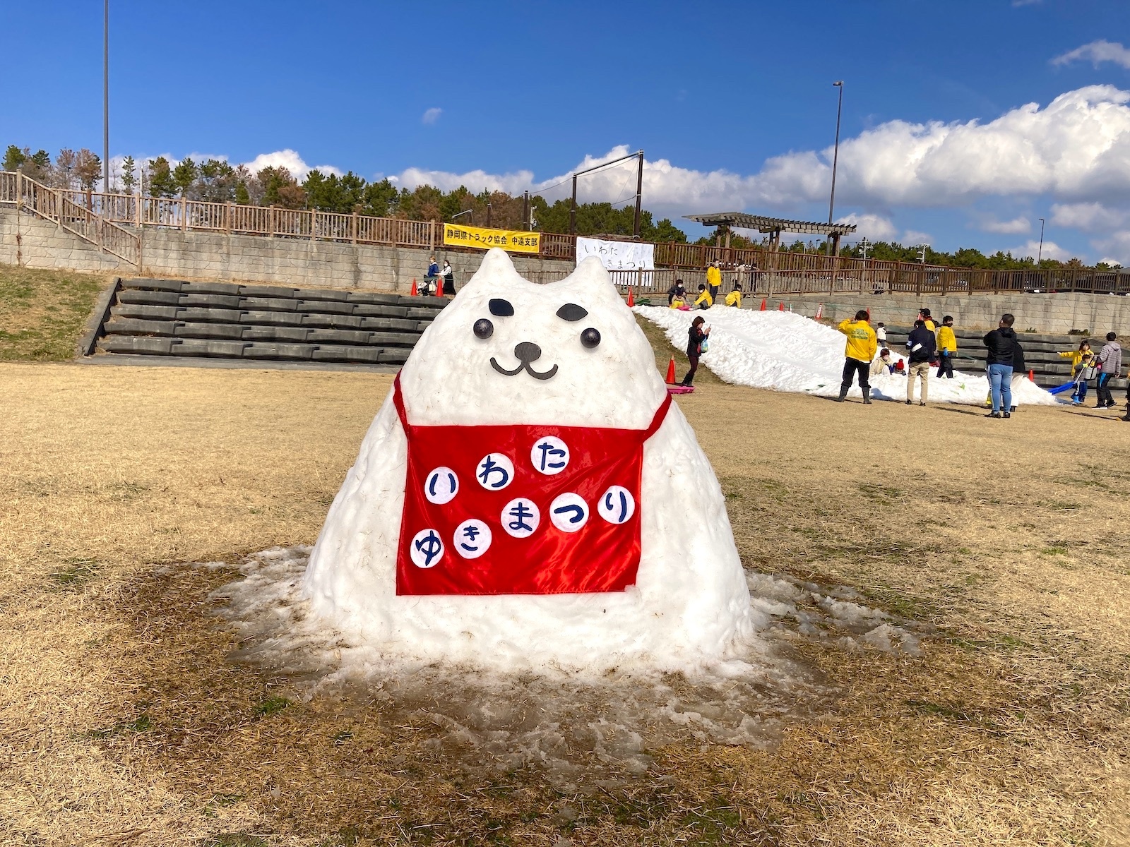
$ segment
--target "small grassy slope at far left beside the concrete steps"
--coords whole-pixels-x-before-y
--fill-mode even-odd
[[[103,277],[0,265],[0,360],[62,361],[75,344]]]

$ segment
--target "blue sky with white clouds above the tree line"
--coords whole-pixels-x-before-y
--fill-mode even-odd
[[[101,152],[102,3],[3,17],[0,143]],[[843,79],[837,219],[1024,252],[1043,217],[1045,255],[1130,264],[1128,29],[1125,0],[111,0],[111,154],[556,198],[642,147],[660,215],[822,219]]]

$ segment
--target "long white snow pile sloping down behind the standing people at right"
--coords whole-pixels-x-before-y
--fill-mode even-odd
[[[710,348],[702,364],[734,385],[836,396],[844,366],[844,337],[802,315],[790,312],[755,312],[716,307],[707,312],[680,312],[664,306],[636,306],[635,311],[661,326],[679,349],[687,346],[687,330],[698,315],[712,328]],[[892,359],[904,358],[896,346]],[[958,350],[958,352],[960,352]],[[930,402],[982,404],[989,393],[984,374],[954,370],[953,379],[930,374]],[[918,392],[915,391],[915,396]],[[901,374],[871,377],[877,400],[906,400],[906,377]],[[860,396],[852,386],[849,396]],[[1054,405],[1055,398],[1028,379],[1012,392],[1017,405]]]

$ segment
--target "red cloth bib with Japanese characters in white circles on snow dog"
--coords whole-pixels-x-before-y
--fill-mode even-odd
[[[412,426],[397,594],[624,591],[640,567],[646,429]]]

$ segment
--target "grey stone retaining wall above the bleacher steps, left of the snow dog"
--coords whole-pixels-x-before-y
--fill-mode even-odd
[[[21,261],[28,268],[76,271],[116,271],[123,277],[262,282],[295,288],[350,288],[407,294],[411,281],[423,281],[429,251],[372,244],[341,244],[304,238],[264,238],[223,233],[150,229],[141,233],[144,270],[101,253],[97,247],[31,215],[20,216]],[[483,253],[444,252],[436,261],[451,262],[459,287],[478,270]],[[519,273],[559,278],[572,261],[515,255]],[[0,262],[16,264],[16,212],[0,210]]]

